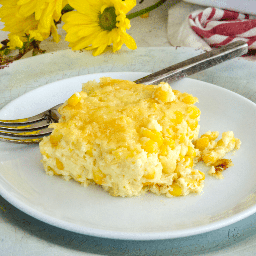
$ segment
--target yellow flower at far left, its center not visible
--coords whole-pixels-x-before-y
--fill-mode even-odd
[[[0,4],[1,21],[5,23],[2,30],[10,32],[10,49],[20,47],[20,42],[26,41],[25,34],[38,41],[52,34],[54,41],[59,42],[54,20],[60,19],[67,0],[0,0]]]

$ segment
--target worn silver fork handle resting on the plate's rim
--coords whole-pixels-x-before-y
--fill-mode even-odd
[[[157,85],[162,81],[167,83],[174,82],[186,76],[193,75],[199,71],[213,67],[226,60],[246,54],[247,52],[248,44],[239,40],[164,68],[134,82],[146,85]]]

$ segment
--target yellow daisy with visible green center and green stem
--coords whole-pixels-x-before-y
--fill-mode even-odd
[[[65,13],[63,29],[67,31],[65,40],[72,50],[92,50],[93,56],[101,54],[113,44],[113,52],[123,44],[136,49],[134,39],[126,33],[131,27],[126,18],[136,0],[69,0],[69,5],[77,11]]]

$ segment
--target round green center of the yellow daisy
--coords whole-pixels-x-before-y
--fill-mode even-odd
[[[111,31],[116,28],[116,9],[114,6],[105,8],[103,13],[99,15],[99,25],[102,29]]]

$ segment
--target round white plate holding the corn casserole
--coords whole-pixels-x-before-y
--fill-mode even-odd
[[[148,73],[83,75],[30,91],[0,110],[1,119],[24,118],[64,102],[81,83],[102,76],[136,80]],[[201,194],[166,198],[147,193],[112,197],[100,186],[82,187],[45,175],[38,146],[0,143],[0,194],[25,213],[51,225],[98,237],[133,240],[178,238],[215,230],[256,212],[256,104],[224,88],[189,78],[172,88],[199,98],[200,134],[232,130],[242,145],[227,155],[234,166],[224,179],[206,172]]]

